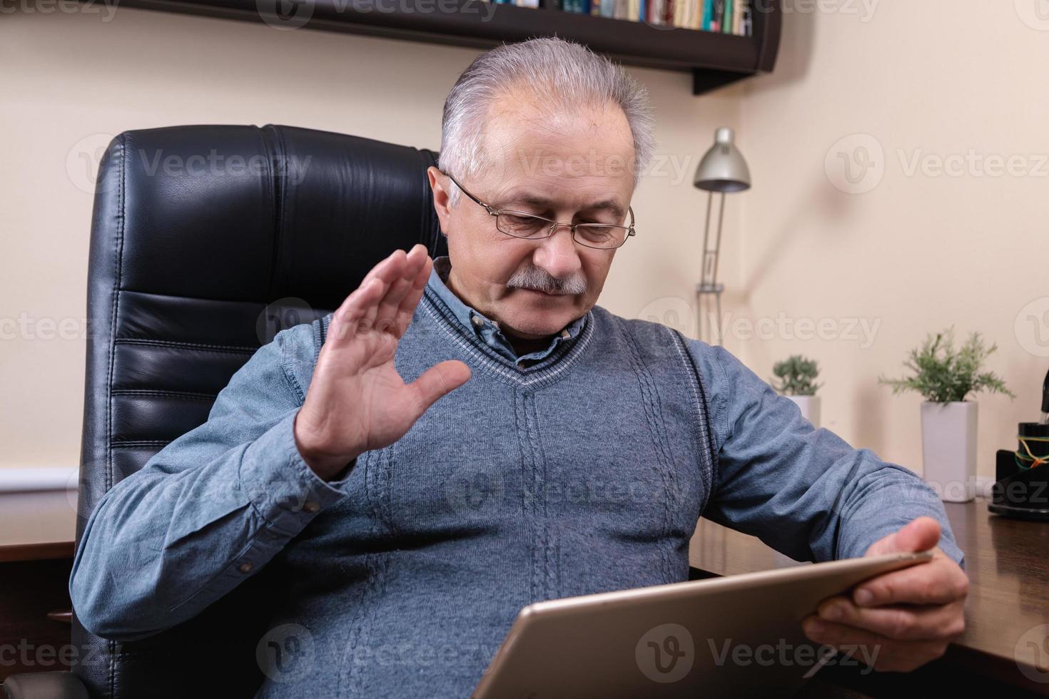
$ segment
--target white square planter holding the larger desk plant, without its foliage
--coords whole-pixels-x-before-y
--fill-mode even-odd
[[[944,502],[976,497],[977,403],[921,405],[922,478]]]

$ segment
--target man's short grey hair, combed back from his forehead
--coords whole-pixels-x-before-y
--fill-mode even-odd
[[[441,170],[455,178],[468,178],[484,167],[481,144],[490,107],[521,85],[530,86],[544,104],[563,112],[583,105],[618,105],[634,137],[637,185],[656,150],[648,91],[607,58],[556,37],[497,46],[463,71],[445,101]],[[450,199],[453,205],[458,200],[457,187]]]

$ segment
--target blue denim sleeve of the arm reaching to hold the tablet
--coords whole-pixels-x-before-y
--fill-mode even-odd
[[[718,447],[704,517],[816,562],[862,556],[925,515],[940,523],[939,547],[965,567],[939,496],[914,472],[814,428],[724,348],[691,340],[689,351],[706,383]]]

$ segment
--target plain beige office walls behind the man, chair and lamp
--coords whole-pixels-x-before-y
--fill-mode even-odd
[[[714,127],[737,127],[754,189],[729,200],[728,348],[764,377],[789,353],[816,357],[825,425],[920,471],[921,398],[892,396],[876,377],[896,375],[926,331],[981,330],[1019,396],[980,398],[980,472],[992,476],[994,450],[1014,447],[1015,423],[1035,418],[1049,366],[1039,356],[1049,316],[1015,328],[1028,304],[1030,315],[1049,306],[1049,31],[1035,28],[1049,22],[1018,12],[1023,0],[787,3],[771,77],[692,97],[685,74],[633,70],[652,94],[660,158],[636,197],[639,237],[617,256],[601,303],[694,334],[705,200],[690,173]],[[444,96],[475,54],[126,8],[102,19],[0,22],[0,320],[34,323],[0,342],[0,467],[78,459],[83,341],[43,338],[41,322],[84,314],[84,152],[125,129],[193,123],[437,148]],[[840,157],[858,176],[860,146],[873,167],[850,184]],[[937,174],[938,159],[949,169],[970,149],[959,176]],[[994,176],[1006,168],[993,157],[1010,156],[1013,174]],[[772,332],[748,336],[741,319]],[[797,340],[806,319],[835,336]]]

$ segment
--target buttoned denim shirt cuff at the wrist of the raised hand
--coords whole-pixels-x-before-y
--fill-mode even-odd
[[[354,462],[325,481],[306,464],[295,443],[295,416],[288,413],[244,451],[240,485],[249,499],[274,528],[296,534],[313,518],[348,494]],[[355,459],[356,461],[356,459]]]

